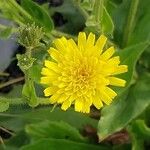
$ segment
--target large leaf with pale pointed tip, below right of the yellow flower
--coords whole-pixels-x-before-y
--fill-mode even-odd
[[[122,95],[120,99],[102,110],[98,124],[100,140],[124,128],[150,105],[149,87],[150,74],[145,74],[130,88],[126,98]]]

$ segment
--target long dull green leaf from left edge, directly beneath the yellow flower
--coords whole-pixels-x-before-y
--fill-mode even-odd
[[[27,123],[39,123],[44,120],[64,121],[78,129],[82,129],[86,125],[95,128],[97,126],[97,120],[85,114],[77,113],[73,109],[65,112],[60,108],[55,108],[51,112],[52,108],[51,105],[36,109],[26,105],[12,106],[7,112],[0,113],[1,125],[15,132],[22,130]]]

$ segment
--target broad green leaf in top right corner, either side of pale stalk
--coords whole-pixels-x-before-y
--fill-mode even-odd
[[[114,40],[118,45],[122,45],[123,37],[125,36],[125,30],[129,27],[128,19],[129,17],[135,15],[132,21],[131,29],[129,30],[129,37],[127,40],[127,45],[136,44],[139,42],[150,41],[150,1],[139,0],[138,8],[135,14],[129,14],[129,9],[132,1],[123,0],[120,5],[114,9],[111,13],[113,22],[115,24]],[[137,2],[137,1],[136,1]]]

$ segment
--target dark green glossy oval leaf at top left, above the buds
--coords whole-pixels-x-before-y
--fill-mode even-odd
[[[38,4],[31,0],[22,0],[21,6],[31,15],[33,21],[50,32],[53,28],[53,21],[48,13]]]

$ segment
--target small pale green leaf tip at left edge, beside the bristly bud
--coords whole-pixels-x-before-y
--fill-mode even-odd
[[[0,29],[0,38],[1,39],[7,39],[12,34],[12,27],[6,27],[5,29]]]

